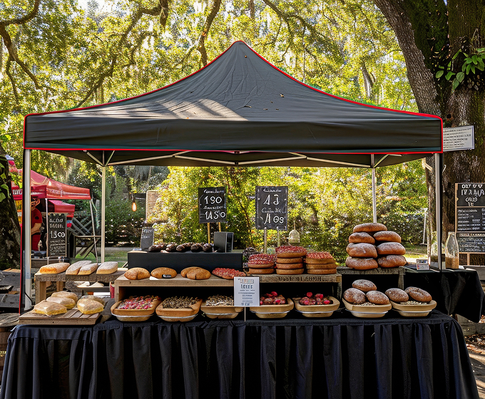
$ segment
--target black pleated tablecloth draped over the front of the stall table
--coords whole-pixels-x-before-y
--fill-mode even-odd
[[[248,317],[18,326],[0,398],[478,398],[461,328],[437,311]]]

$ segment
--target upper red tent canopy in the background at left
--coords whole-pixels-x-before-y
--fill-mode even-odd
[[[19,170],[19,173],[22,173],[22,170]],[[12,184],[12,192],[14,199],[22,199],[21,188]],[[56,180],[34,172],[34,170],[31,170],[31,196],[48,199],[91,199],[88,188],[56,182]]]

